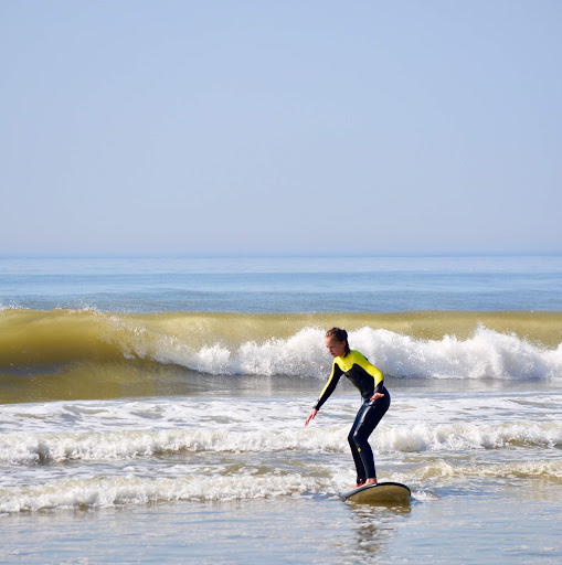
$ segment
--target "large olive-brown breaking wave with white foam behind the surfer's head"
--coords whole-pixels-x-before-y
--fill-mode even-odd
[[[325,330],[320,328],[339,320],[349,322],[346,327],[352,349],[361,351],[385,375],[447,379],[562,375],[562,342],[558,339],[562,313],[532,317],[527,312],[527,318],[521,313],[506,313],[499,323],[490,313],[471,312],[470,332],[467,332],[466,312],[447,316],[413,312],[401,315],[397,320],[383,315],[379,318],[377,315],[4,310],[0,312],[0,365],[135,360],[176,364],[209,374],[325,379],[330,359],[324,350]],[[478,319],[495,323],[496,328]],[[517,333],[500,331],[508,322]],[[424,323],[431,331],[424,329]],[[547,347],[527,338],[531,326],[536,332],[550,335],[550,341],[555,340],[554,344]],[[427,333],[435,337],[428,338]]]

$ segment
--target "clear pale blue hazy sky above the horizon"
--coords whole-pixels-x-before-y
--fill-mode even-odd
[[[0,254],[562,250],[562,2],[0,0]]]

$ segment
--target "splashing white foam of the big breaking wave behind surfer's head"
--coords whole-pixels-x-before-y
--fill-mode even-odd
[[[562,343],[547,349],[515,334],[480,326],[459,340],[421,340],[388,330],[362,328],[349,334],[383,374],[396,377],[547,379],[562,376]],[[129,331],[124,354],[174,363],[211,374],[298,375],[325,377],[331,359],[322,347],[324,330],[305,328],[288,339],[246,342],[237,348],[215,343],[199,350],[170,335],[140,328]]]

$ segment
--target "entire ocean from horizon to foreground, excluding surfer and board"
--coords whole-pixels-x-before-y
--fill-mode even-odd
[[[3,257],[0,563],[560,564],[561,385],[562,256]]]

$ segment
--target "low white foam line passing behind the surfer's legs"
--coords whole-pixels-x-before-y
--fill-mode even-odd
[[[150,457],[180,451],[215,452],[347,452],[346,425],[291,427],[283,431],[229,428],[129,430],[86,434],[4,434],[0,463],[99,461]],[[562,423],[509,423],[496,425],[381,424],[371,444],[377,452],[466,451],[510,449],[516,446],[562,446]]]

